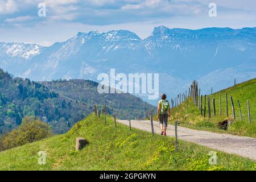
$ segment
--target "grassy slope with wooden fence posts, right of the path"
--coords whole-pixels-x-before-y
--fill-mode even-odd
[[[171,110],[171,123],[176,120],[181,121],[180,125],[184,127],[190,127],[199,130],[210,130],[221,133],[232,133],[247,137],[256,137],[256,79],[243,82],[242,84],[233,86],[231,88],[221,90],[220,92],[210,95],[211,99],[211,110],[213,109],[213,98],[216,99],[216,117],[209,119],[208,104],[206,105],[206,117],[200,116],[200,111],[193,104],[192,98],[183,102],[177,108]],[[220,93],[221,93],[221,107],[222,114],[220,115]],[[229,117],[226,117],[226,97],[225,93],[228,93],[228,111]],[[230,102],[230,96],[233,97],[234,107],[236,110],[236,122],[232,123],[227,131],[218,129],[217,123],[224,121],[225,119],[233,119],[232,107]],[[208,96],[207,96],[208,97]],[[247,117],[247,100],[250,100],[250,113],[251,123],[248,122]],[[240,101],[242,117],[240,119],[240,112],[238,109],[237,100]],[[203,98],[204,108],[204,98]],[[204,111],[203,111],[204,113]],[[213,115],[213,111],[212,111]]]

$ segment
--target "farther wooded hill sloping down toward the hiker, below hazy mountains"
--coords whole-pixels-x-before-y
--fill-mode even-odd
[[[154,106],[131,94],[100,94],[97,92],[98,83],[94,81],[73,79],[41,83],[60,96],[85,102],[90,107],[97,104],[103,109],[106,104],[108,113],[116,114],[122,119],[144,117],[146,110],[154,109]]]

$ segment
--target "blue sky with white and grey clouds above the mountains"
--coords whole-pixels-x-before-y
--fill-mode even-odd
[[[46,17],[38,16],[45,3]],[[217,17],[210,18],[209,3]],[[255,0],[0,0],[0,42],[49,46],[77,32],[130,30],[141,38],[156,26],[256,27]]]

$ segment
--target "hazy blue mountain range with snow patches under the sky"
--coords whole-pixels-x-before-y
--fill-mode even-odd
[[[37,81],[97,81],[99,73],[115,68],[119,73],[159,73],[160,92],[171,96],[183,92],[194,79],[200,80],[205,92],[211,86],[217,91],[230,86],[234,78],[245,81],[255,76],[256,70],[248,68],[256,67],[256,28],[160,26],[143,40],[126,30],[79,32],[51,47],[0,43],[0,63],[15,76]],[[216,84],[224,77],[228,81]]]

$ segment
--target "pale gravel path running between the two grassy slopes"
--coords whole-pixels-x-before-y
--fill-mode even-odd
[[[129,126],[129,121],[118,120],[118,122]],[[131,121],[131,127],[136,129],[150,131],[150,121]],[[160,133],[159,122],[154,122],[155,133]],[[209,131],[192,130],[185,127],[177,127],[178,138],[223,151],[229,154],[237,154],[249,159],[256,160],[256,138],[238,137],[230,134],[218,134]],[[169,125],[167,136],[175,137],[174,126]]]

